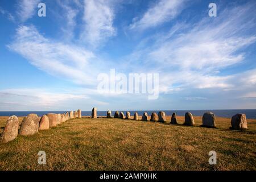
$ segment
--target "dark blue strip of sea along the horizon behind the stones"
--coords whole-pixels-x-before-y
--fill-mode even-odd
[[[126,110],[118,110],[119,113],[123,111],[126,113]],[[135,111],[129,110],[131,115],[134,115]],[[139,110],[137,113],[142,115],[144,112],[147,112],[148,115],[151,115],[152,112],[158,113],[159,110]],[[230,109],[230,110],[161,110],[166,113],[166,115],[172,115],[172,113],[176,113],[177,115],[185,115],[187,112],[191,112],[195,116],[203,116],[205,112],[211,111],[216,117],[223,118],[232,118],[233,115],[237,113],[246,114],[247,119],[256,119],[256,109]],[[18,117],[26,116],[30,113],[37,114],[38,116],[42,116],[47,113],[65,113],[67,111],[0,111],[0,116],[11,116],[16,115]],[[114,115],[115,111],[112,111],[112,115]],[[98,116],[106,116],[107,111],[97,111]],[[92,114],[92,111],[82,111],[82,116],[89,116]]]

